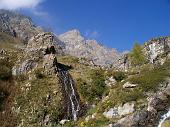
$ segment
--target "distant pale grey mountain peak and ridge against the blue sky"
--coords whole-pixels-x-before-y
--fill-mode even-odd
[[[72,30],[59,35],[65,43],[66,54],[84,57],[92,60],[96,65],[111,66],[119,59],[120,54],[115,49],[109,49],[98,44],[95,40],[86,40],[78,30]]]

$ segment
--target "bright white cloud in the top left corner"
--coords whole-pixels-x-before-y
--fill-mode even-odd
[[[0,9],[33,9],[44,0],[0,0]]]

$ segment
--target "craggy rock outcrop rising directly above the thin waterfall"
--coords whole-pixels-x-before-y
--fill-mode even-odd
[[[42,60],[41,68],[44,73],[52,75],[55,73],[55,65],[57,65],[56,55],[61,53],[59,45],[51,33],[40,33],[30,39],[25,49],[25,61],[19,61],[13,67],[13,75],[26,74],[39,65]],[[40,65],[39,65],[40,66]]]

